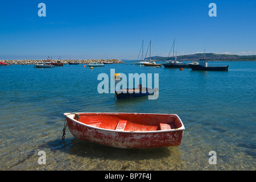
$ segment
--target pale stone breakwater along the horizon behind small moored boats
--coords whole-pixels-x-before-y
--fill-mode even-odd
[[[46,60],[0,60],[0,62],[8,63],[8,64],[38,64],[38,63],[44,63]],[[52,63],[56,63],[59,60],[51,60]],[[94,59],[86,59],[86,60],[61,60],[61,63],[68,64],[68,63],[75,63],[75,61],[79,64],[88,64],[88,63],[103,63],[105,61],[109,61],[111,63],[124,63],[121,60],[118,59],[101,59],[101,60],[94,60]]]

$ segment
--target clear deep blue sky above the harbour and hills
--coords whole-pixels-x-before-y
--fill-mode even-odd
[[[210,17],[210,3],[217,17]],[[39,17],[39,3],[46,17]],[[203,52],[256,55],[256,1],[0,1],[1,59],[137,59]]]

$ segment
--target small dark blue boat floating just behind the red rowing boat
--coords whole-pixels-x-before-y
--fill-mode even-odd
[[[143,97],[143,96],[154,94],[154,92],[155,92],[154,89],[150,89],[146,87],[120,89],[120,90],[115,90],[115,97],[117,97],[117,100],[121,98]]]

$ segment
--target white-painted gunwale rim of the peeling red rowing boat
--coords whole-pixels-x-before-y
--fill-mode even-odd
[[[68,117],[73,122],[76,122],[79,125],[84,125],[86,127],[92,128],[92,129],[111,131],[111,132],[115,132],[115,133],[136,133],[136,134],[139,134],[139,133],[142,133],[142,134],[145,134],[145,133],[170,133],[170,132],[174,132],[174,131],[184,131],[185,130],[185,127],[184,127],[183,122],[181,121],[181,119],[180,119],[181,127],[177,128],[177,129],[170,129],[170,130],[117,131],[117,130],[103,129],[103,128],[100,128],[100,127],[95,127],[95,126],[87,125],[85,123],[77,121],[76,119],[74,119],[75,114],[106,114],[106,115],[112,115],[112,114],[117,114],[117,115],[118,114],[137,114],[137,115],[152,114],[152,115],[175,115],[178,119],[180,119],[180,117],[177,114],[158,114],[158,113],[64,113],[65,117]]]

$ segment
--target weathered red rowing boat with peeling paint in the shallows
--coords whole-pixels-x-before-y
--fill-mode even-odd
[[[64,113],[78,139],[118,148],[179,146],[185,127],[176,114]]]

